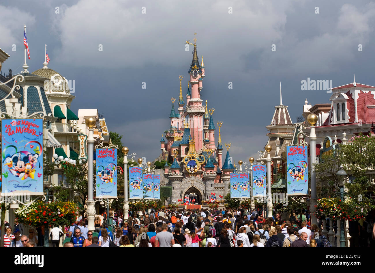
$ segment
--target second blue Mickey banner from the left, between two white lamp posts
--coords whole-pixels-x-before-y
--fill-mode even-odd
[[[117,198],[117,149],[96,149],[96,198]]]

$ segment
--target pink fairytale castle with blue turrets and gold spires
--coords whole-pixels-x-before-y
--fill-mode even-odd
[[[222,163],[220,127],[217,122],[219,137],[215,143],[214,109],[207,109],[207,100],[202,105],[201,92],[205,77],[203,58],[199,64],[194,37],[193,60],[189,68],[186,94],[186,105],[182,95],[180,75],[180,95],[177,101],[177,112],[174,108],[175,98],[172,98],[172,110],[169,118],[171,127],[164,131],[160,140],[160,149],[166,161],[172,162],[164,166],[164,176],[168,181],[165,186],[172,187],[172,200],[189,195],[200,204],[208,200],[210,193],[216,196],[229,192],[230,173],[233,172],[233,160],[229,155],[230,143],[226,144],[226,156]],[[186,44],[192,45],[189,41]],[[190,89],[191,88],[191,89]]]

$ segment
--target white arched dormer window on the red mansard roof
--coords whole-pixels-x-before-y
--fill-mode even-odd
[[[349,104],[347,103],[348,96],[341,92],[332,94],[330,100],[332,104],[332,115],[330,124],[342,124],[349,122]]]

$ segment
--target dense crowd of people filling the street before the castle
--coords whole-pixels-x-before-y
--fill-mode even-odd
[[[106,215],[105,215],[106,216]],[[129,219],[114,213],[95,219],[95,231],[87,228],[87,219],[64,230],[50,230],[52,246],[58,247],[332,247],[322,234],[322,223],[310,225],[309,214],[275,212],[264,218],[261,210],[151,210]],[[367,223],[367,222],[366,222]],[[110,224],[110,225],[108,225]],[[373,227],[373,223],[367,223]],[[375,237],[375,226],[372,234]],[[34,247],[35,229],[23,234],[15,222],[4,234],[4,247]]]

